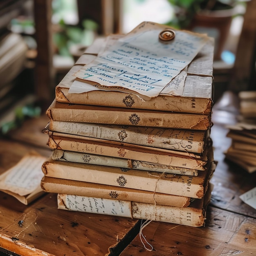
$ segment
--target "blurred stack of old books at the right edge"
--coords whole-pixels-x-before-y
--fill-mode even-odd
[[[240,115],[237,124],[228,126],[227,137],[232,142],[225,155],[227,159],[252,173],[256,171],[256,92],[242,91],[238,97]]]

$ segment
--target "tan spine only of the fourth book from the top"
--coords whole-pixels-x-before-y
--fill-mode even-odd
[[[154,164],[172,165],[175,167],[189,168],[195,170],[204,170],[207,161],[170,156],[165,154],[155,154],[149,151],[131,150],[129,148],[119,147],[117,145],[104,145],[94,141],[78,141],[72,138],[55,137],[49,134],[49,147],[52,149],[61,149],[81,153],[90,153],[94,155],[105,155],[110,157],[119,157],[133,159]]]

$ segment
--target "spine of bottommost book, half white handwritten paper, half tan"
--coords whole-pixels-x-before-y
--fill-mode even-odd
[[[190,207],[58,194],[58,209],[156,220],[191,227],[204,225],[204,210]]]

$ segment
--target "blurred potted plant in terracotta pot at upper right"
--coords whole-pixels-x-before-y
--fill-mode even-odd
[[[174,8],[174,18],[168,25],[213,36],[215,59],[220,59],[229,35],[237,0],[168,0]]]

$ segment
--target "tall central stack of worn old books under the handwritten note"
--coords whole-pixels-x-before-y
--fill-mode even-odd
[[[212,40],[173,80],[173,88],[182,87],[180,95],[141,100],[112,90],[71,93],[74,83],[85,84],[73,75],[97,58],[104,42],[95,41],[56,87],[45,131],[53,153],[42,167],[42,188],[58,193],[60,209],[204,225],[215,170],[209,137]],[[139,51],[133,45],[116,52],[131,54],[132,47]],[[108,65],[99,65],[103,83],[110,76]],[[85,71],[84,76],[91,75]]]

